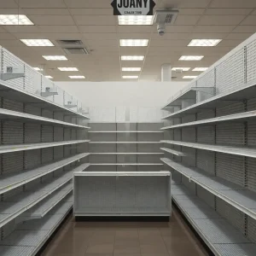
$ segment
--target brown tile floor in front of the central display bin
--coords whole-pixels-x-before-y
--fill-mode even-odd
[[[41,256],[208,255],[176,210],[169,223],[75,222],[67,219]]]

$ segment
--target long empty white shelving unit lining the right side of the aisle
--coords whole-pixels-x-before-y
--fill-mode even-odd
[[[255,60],[253,35],[163,108],[172,201],[218,256],[256,252]]]

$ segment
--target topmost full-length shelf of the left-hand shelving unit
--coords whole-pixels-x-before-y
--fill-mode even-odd
[[[26,90],[15,88],[3,80],[0,80],[0,94],[4,98],[15,100],[17,102],[24,102],[38,106],[39,108],[48,108],[51,111],[64,112],[67,115],[73,115],[79,118],[90,119],[88,116],[73,111],[70,108],[65,108],[55,102],[50,102],[42,96],[32,94]]]

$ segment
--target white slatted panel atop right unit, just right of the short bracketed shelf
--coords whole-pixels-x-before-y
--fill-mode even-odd
[[[244,50],[238,50],[234,55],[216,67],[217,94],[241,88],[244,84]]]

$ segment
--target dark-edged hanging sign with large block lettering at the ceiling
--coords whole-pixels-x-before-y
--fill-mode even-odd
[[[113,15],[153,15],[153,0],[113,0]]]

